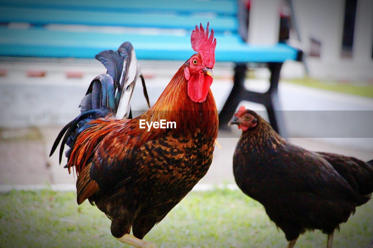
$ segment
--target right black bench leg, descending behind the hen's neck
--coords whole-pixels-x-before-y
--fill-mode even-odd
[[[266,104],[266,109],[269,122],[273,129],[282,137],[286,138],[287,133],[278,97],[278,84],[280,79],[281,67],[282,63],[268,63],[268,68],[271,71],[271,77],[270,87],[267,92],[267,96],[269,96],[269,99],[267,99],[268,104]]]

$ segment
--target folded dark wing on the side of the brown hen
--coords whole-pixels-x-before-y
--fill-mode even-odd
[[[312,152],[286,143],[271,160],[273,165],[278,165],[272,172],[284,191],[304,191],[328,200],[357,200],[345,179],[326,160]]]

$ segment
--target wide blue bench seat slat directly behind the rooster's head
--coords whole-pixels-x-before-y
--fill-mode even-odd
[[[295,60],[297,50],[285,44],[248,45],[238,35],[217,35],[216,61],[283,62]],[[42,28],[0,28],[0,56],[94,58],[130,41],[138,59],[187,60],[194,51],[190,36],[104,34],[53,31]]]

